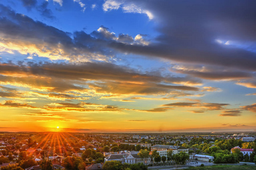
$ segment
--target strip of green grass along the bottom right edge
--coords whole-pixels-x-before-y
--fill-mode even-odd
[[[224,169],[224,170],[242,170],[242,169],[256,169],[255,166],[250,166],[250,165],[213,165],[209,167],[191,167],[188,168],[191,170],[219,170],[219,169]]]

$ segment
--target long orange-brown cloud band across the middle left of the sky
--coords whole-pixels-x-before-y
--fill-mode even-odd
[[[68,92],[92,92],[110,95],[167,95],[170,97],[193,96],[183,91],[197,92],[200,88],[174,86],[184,84],[187,77],[160,76],[138,73],[128,67],[105,62],[81,63],[0,63],[0,83],[27,87],[31,90],[51,92],[32,95],[52,100],[74,99]],[[92,82],[93,81],[93,82]],[[189,84],[198,84],[189,78]],[[80,99],[85,99],[82,96]]]

